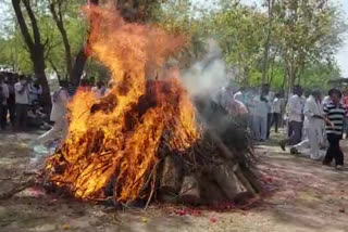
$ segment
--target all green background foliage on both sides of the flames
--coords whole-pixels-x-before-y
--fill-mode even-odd
[[[328,79],[339,76],[335,53],[347,28],[341,12],[326,0],[273,1],[272,17],[265,11],[270,0],[264,0],[262,8],[247,7],[239,0],[216,0],[219,3],[208,9],[199,9],[190,0],[136,2],[139,9],[144,9],[139,11],[148,24],[185,34],[190,39],[179,57],[184,67],[201,59],[207,40],[214,38],[223,50],[227,66],[238,70],[236,80],[240,85],[259,86],[264,44],[271,29],[266,78],[272,88],[285,89],[298,82],[310,88],[326,87]],[[48,2],[33,0],[42,42],[46,43],[47,72],[65,76],[64,47]],[[9,3],[5,0],[3,4]],[[84,3],[85,0],[64,0],[63,4],[64,26],[73,57],[86,41],[87,27],[80,13]],[[0,39],[0,65],[29,73],[32,62],[22,35],[11,14],[9,20],[12,24],[7,24],[10,26],[5,27]],[[272,24],[269,24],[270,20]],[[97,78],[109,75],[96,61],[89,61],[86,70]]]

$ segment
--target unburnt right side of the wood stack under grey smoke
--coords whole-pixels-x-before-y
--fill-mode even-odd
[[[247,131],[217,104],[197,99],[202,139],[185,154],[165,153],[158,198],[169,203],[215,205],[243,203],[262,191]],[[223,128],[223,129],[222,129]]]

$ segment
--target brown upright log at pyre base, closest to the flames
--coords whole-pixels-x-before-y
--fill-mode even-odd
[[[184,164],[178,155],[167,155],[164,158],[160,181],[160,193],[177,195],[181,191]]]

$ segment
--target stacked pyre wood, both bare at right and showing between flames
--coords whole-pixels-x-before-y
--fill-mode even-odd
[[[129,109],[129,115],[141,117],[145,112],[157,105],[153,87],[162,86],[162,91],[166,89],[164,83],[158,85],[158,81],[148,82],[146,94],[139,99],[138,105]],[[100,103],[92,105],[91,114],[112,111],[115,103],[111,99],[114,96],[109,95]],[[141,197],[139,196],[141,204],[159,201],[211,205],[240,202],[260,193],[262,186],[251,171],[253,156],[247,131],[234,124],[227,113],[209,98],[197,99],[195,105],[199,124],[203,126],[202,137],[186,151],[173,151],[167,144],[171,131],[163,131],[163,139],[157,154],[160,162],[147,173],[148,181],[142,188]],[[127,130],[132,130],[135,120],[130,116],[127,118],[126,124],[129,125]],[[90,144],[90,147],[94,145],[98,144]],[[64,167],[66,168],[70,164],[62,165],[64,157],[60,151],[54,155],[60,160],[59,167],[54,169],[63,172]],[[116,184],[115,178],[112,177],[104,188],[104,195],[115,196],[114,191],[119,189]],[[48,185],[50,189],[52,186],[62,189],[54,183]]]

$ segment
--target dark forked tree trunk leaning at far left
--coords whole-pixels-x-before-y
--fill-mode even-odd
[[[32,33],[29,31],[29,26],[24,16],[24,13],[23,13],[24,9],[22,8],[22,4],[28,15]],[[36,16],[30,5],[30,1],[29,0],[12,0],[12,5],[17,18],[17,23],[18,23],[22,36],[28,49],[30,60],[33,62],[34,73],[38,78],[40,85],[42,86],[44,104],[49,107],[51,104],[51,98],[50,98],[50,89],[49,89],[46,73],[45,73],[45,69],[46,69],[45,47],[47,46],[47,43],[44,44],[41,42],[41,35],[39,31]]]

